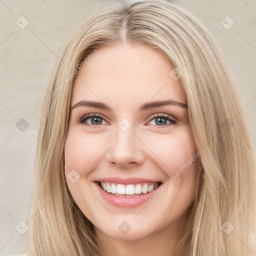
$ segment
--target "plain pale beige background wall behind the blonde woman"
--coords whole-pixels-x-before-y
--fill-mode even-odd
[[[213,35],[217,33],[215,38],[239,83],[256,152],[256,1],[177,1]],[[27,215],[37,121],[50,71],[66,36],[101,3],[104,1],[0,0],[0,255],[8,255],[18,234],[15,226]],[[15,24],[21,15],[29,21],[24,29]],[[220,23],[226,15],[234,21],[229,29]],[[16,127],[21,118],[28,123],[23,131]]]

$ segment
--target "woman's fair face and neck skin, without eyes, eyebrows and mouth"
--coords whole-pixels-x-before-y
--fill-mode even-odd
[[[121,208],[106,202],[93,180],[103,177],[142,177],[164,183],[196,153],[187,108],[164,105],[138,111],[143,103],[172,99],[186,104],[180,79],[169,72],[174,68],[157,50],[142,44],[104,46],[77,74],[71,107],[80,100],[109,105],[112,111],[90,106],[71,110],[65,140],[65,175],[79,173],[76,182],[66,178],[68,188],[84,215],[93,223],[101,252],[106,255],[174,255],[185,228],[186,210],[195,198],[198,159],[157,198],[136,207]],[[86,114],[102,116],[101,124]],[[176,120],[164,125],[156,114]],[[118,127],[122,118],[131,127]],[[166,123],[166,124],[165,124]],[[90,124],[90,125],[89,125]],[[126,221],[131,229],[122,233]],[[102,253],[103,254],[103,253]]]

